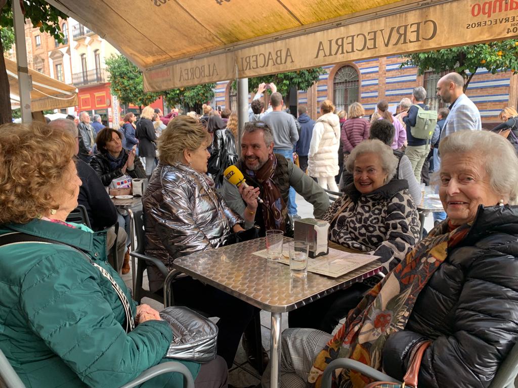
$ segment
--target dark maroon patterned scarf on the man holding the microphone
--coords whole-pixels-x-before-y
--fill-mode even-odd
[[[244,163],[242,163],[244,165]],[[246,165],[244,165],[246,166]],[[274,182],[275,169],[277,168],[277,158],[274,154],[270,154],[264,166],[257,171],[246,169],[246,173],[254,178],[263,186],[261,206],[263,211],[264,226],[268,229],[277,229],[286,231],[287,207],[282,199],[281,192]]]

